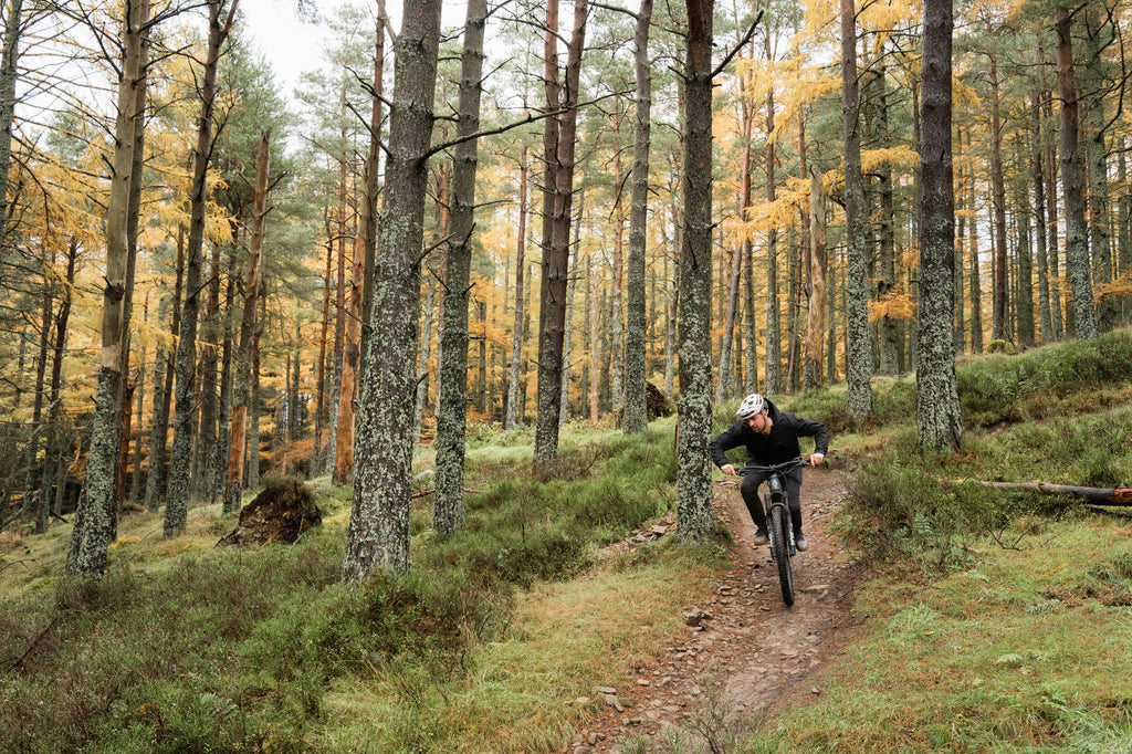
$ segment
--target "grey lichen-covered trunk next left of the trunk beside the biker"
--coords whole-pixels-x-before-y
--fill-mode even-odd
[[[642,0],[633,37],[636,68],[636,108],[633,118],[633,175],[629,196],[628,319],[625,333],[625,405],[621,426],[626,435],[649,426],[645,394],[645,224],[649,217],[649,146],[652,119],[652,71],[649,66],[649,28],[652,0]]]

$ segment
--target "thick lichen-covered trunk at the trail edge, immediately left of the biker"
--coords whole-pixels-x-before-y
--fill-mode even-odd
[[[680,539],[710,541],[712,0],[687,0],[684,97],[684,239],[680,245],[679,435],[676,506]]]

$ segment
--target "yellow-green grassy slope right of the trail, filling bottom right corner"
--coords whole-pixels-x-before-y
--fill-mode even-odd
[[[743,752],[1125,752],[1132,540],[1061,522],[1040,547],[989,548],[932,583],[874,583],[876,616],[817,700],[767,721]]]

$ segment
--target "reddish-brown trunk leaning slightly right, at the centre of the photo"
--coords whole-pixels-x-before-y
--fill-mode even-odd
[[[552,232],[550,247],[542,252],[540,286],[542,306],[539,308],[539,414],[534,429],[537,466],[549,466],[558,457],[558,409],[563,376],[563,341],[566,334],[566,277],[569,271],[577,96],[588,12],[586,0],[574,0],[574,31],[567,49],[561,113],[557,118],[559,126],[555,151],[554,213],[550,217]]]

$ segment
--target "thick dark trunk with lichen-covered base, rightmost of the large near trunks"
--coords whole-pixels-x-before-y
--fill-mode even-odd
[[[952,329],[955,199],[951,161],[952,0],[924,7],[920,111],[920,297],[916,411],[919,442],[958,448],[962,437]]]

